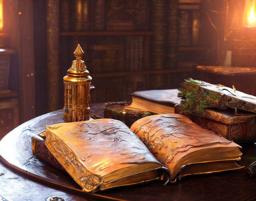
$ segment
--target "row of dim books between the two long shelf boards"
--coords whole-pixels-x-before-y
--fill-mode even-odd
[[[80,44],[84,51],[83,60],[90,73],[116,72],[116,71],[147,71],[151,69],[151,44],[149,36],[124,36],[124,37],[97,37],[91,43],[83,37],[73,37],[70,41],[70,51]],[[66,51],[63,48],[63,51]],[[62,52],[63,52],[62,51]],[[74,60],[72,53],[68,53],[70,63]],[[65,58],[64,53],[61,57]],[[195,62],[181,62],[177,68],[189,68]]]

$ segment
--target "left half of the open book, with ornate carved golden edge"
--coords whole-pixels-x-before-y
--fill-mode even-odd
[[[118,120],[45,127],[47,148],[87,192],[159,179],[165,174],[166,168]]]

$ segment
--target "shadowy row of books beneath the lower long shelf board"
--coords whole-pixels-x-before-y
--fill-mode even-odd
[[[135,91],[149,89],[178,88],[184,77],[191,73],[159,74],[159,75],[130,75],[127,77],[93,78],[91,85],[95,87],[90,92],[91,102],[127,101],[129,94]]]

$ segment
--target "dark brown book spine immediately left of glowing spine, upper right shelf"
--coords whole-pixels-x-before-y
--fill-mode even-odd
[[[179,45],[190,46],[191,45],[191,23],[190,23],[190,12],[180,11],[179,12]]]

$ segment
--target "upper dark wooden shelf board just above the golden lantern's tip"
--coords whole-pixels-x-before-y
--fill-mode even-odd
[[[60,36],[127,36],[152,35],[152,31],[60,31]]]

